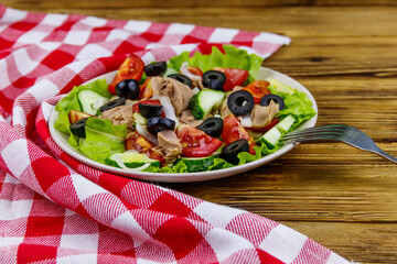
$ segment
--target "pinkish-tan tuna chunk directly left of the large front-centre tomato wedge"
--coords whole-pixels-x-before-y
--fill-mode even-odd
[[[182,153],[182,144],[172,130],[163,130],[158,133],[159,145],[153,151],[165,158],[165,162],[174,162]]]

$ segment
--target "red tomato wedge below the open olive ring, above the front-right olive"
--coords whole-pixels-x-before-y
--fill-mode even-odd
[[[224,119],[224,130],[221,136],[226,144],[235,142],[236,140],[246,139],[249,144],[249,154],[255,154],[254,146],[256,146],[256,144],[253,136],[248,134],[238,119],[232,113]]]

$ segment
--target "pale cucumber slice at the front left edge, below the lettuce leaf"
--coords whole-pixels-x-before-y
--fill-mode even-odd
[[[147,163],[151,166],[160,167],[160,162],[152,160],[144,154],[138,153],[137,151],[126,151],[124,153],[115,153],[105,160],[107,165],[114,167],[122,167],[119,163],[124,163],[126,167],[136,168]]]

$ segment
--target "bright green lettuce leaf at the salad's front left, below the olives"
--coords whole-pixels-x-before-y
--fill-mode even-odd
[[[78,150],[87,157],[105,163],[105,158],[115,153],[125,152],[127,124],[114,125],[108,119],[88,118],[86,138]]]

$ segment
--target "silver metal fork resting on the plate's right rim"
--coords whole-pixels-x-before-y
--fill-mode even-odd
[[[282,144],[296,144],[298,142],[305,141],[340,141],[348,145],[357,147],[363,151],[374,152],[394,163],[397,163],[397,158],[382,151],[375,142],[363,131],[345,124],[326,124],[320,127],[313,127],[304,130],[298,130],[286,134],[280,143]]]

